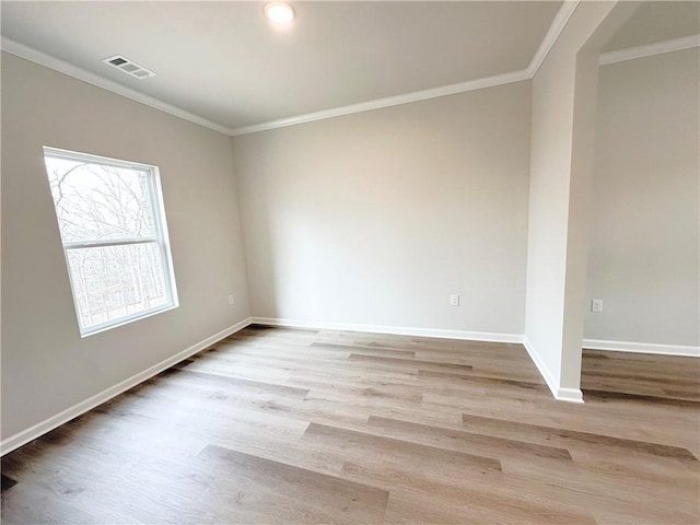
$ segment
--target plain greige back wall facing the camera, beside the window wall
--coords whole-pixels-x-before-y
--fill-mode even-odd
[[[234,138],[253,315],[522,334],[529,96],[520,82]]]

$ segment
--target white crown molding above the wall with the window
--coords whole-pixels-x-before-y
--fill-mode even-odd
[[[73,66],[72,63],[69,63],[65,60],[51,57],[50,55],[34,49],[33,47],[25,46],[24,44],[20,44],[19,42],[12,40],[4,36],[0,40],[0,48],[11,55],[24,58],[25,60],[38,63],[74,79],[82,80],[83,82],[96,85],[97,88],[110,91],[113,93],[116,93],[117,95],[121,95],[126,98],[130,98],[155,109],[160,109],[161,112],[168,113],[175,117],[189,120],[190,122],[198,124],[199,126],[203,126],[205,128],[213,129],[214,131],[219,131],[220,133],[231,135],[231,129],[224,126],[212,122],[211,120],[186,112],[185,109],[180,109],[179,107],[173,106],[172,104],[162,102],[153,96],[144,95],[143,93],[132,90],[131,88],[118,84],[117,82],[107,80],[103,77],[100,77],[98,74],[91,73],[90,71],[79,68],[78,66]]]

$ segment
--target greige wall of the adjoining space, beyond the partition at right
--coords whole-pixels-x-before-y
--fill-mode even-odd
[[[586,339],[700,345],[699,63],[695,48],[600,68],[586,298],[604,312]]]

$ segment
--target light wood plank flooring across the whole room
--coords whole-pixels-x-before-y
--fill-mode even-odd
[[[700,360],[248,327],[2,458],[2,522],[698,524]]]

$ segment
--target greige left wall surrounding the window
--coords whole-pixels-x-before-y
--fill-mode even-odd
[[[43,145],[160,166],[178,308],[81,339]],[[2,55],[3,441],[248,317],[232,172],[228,137]]]

